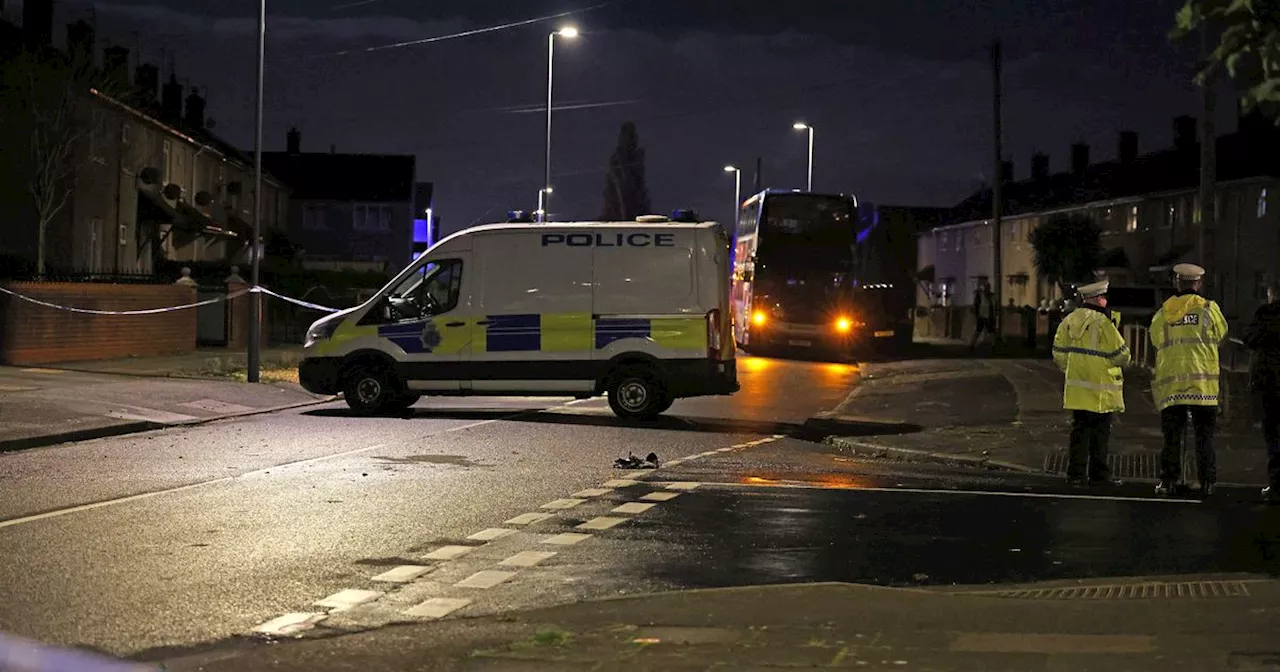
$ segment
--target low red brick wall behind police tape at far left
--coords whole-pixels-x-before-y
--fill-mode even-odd
[[[8,283],[19,294],[77,308],[145,310],[196,301],[175,284]],[[0,293],[0,364],[35,365],[196,349],[196,311],[86,315],[37,306]]]

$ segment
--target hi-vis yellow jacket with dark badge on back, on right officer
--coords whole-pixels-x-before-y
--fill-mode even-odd
[[[1178,294],[1151,319],[1156,379],[1151,393],[1164,411],[1170,406],[1217,406],[1217,346],[1226,319],[1217,303],[1193,292]]]

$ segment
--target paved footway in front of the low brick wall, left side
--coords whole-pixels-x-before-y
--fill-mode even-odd
[[[209,422],[328,401],[296,384],[200,378],[207,353],[0,366],[0,452]],[[169,376],[173,378],[152,378]]]

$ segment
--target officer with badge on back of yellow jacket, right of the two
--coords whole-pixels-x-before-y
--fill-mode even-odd
[[[1196,430],[1196,463],[1201,495],[1213,494],[1217,465],[1213,429],[1217,425],[1217,348],[1226,339],[1226,319],[1217,303],[1201,296],[1204,269],[1194,264],[1174,266],[1178,293],[1165,301],[1151,319],[1151,344],[1156,348],[1156,372],[1151,384],[1165,447],[1160,456],[1160,485],[1156,494],[1170,495],[1183,472],[1183,438],[1187,415]]]

